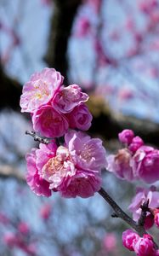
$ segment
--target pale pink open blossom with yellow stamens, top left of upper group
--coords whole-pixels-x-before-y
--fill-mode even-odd
[[[54,68],[44,68],[34,73],[24,85],[20,97],[21,112],[33,113],[37,108],[48,104],[63,83],[63,77]]]

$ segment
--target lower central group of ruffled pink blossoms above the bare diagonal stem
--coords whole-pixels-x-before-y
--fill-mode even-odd
[[[100,188],[105,148],[99,139],[70,131],[64,146],[40,144],[27,154],[26,161],[27,183],[37,195],[49,196],[53,190],[64,197],[88,197]]]

